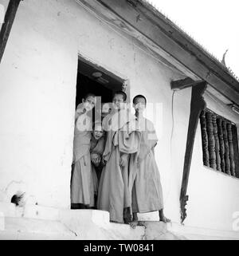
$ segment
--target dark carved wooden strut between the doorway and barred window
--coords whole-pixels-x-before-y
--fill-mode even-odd
[[[194,139],[198,127],[198,120],[200,113],[206,108],[206,103],[203,99],[203,93],[206,90],[206,82],[202,81],[200,84],[195,85],[192,88],[192,96],[190,103],[190,120],[187,131],[186,138],[186,152],[184,156],[184,166],[182,173],[182,186],[180,194],[180,207],[181,207],[181,221],[186,219],[186,201],[188,200],[188,195],[186,195],[186,189],[188,184],[188,179],[190,175],[190,165],[194,148]]]

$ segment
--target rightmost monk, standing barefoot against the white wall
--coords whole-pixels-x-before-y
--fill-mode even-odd
[[[143,95],[133,99],[137,125],[141,132],[139,156],[137,164],[131,163],[129,187],[131,190],[133,221],[130,225],[134,228],[140,224],[137,213],[159,211],[159,220],[170,222],[163,214],[163,191],[160,182],[159,169],[155,161],[154,148],[157,136],[154,124],[143,117],[147,100]]]

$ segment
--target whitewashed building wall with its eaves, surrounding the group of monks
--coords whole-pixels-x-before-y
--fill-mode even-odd
[[[7,8],[9,1],[2,2]],[[99,85],[106,97],[120,88],[130,102],[136,94],[147,97],[159,136],[165,214],[176,231],[183,233],[183,221],[189,233],[239,238],[239,82],[147,2],[20,2],[0,81],[0,211],[6,217],[19,191],[29,207],[70,209],[76,101]]]

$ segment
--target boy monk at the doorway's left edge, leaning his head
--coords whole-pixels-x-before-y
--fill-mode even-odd
[[[76,108],[71,179],[72,209],[94,207],[94,187],[90,157],[92,119],[89,114],[95,103],[95,95],[89,93],[84,96],[82,103]]]

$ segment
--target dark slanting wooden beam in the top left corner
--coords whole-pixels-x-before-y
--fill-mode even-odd
[[[6,48],[6,42],[10,35],[11,28],[14,24],[14,18],[16,16],[20,1],[22,0],[10,0],[6,10],[4,23],[2,24],[2,29],[0,31],[0,63],[2,61],[2,56]]]

